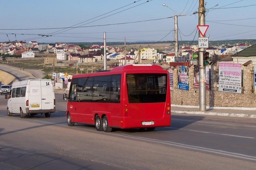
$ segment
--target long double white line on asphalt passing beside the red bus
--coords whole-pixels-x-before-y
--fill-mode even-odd
[[[63,126],[63,127],[68,128],[67,125],[59,124],[59,123],[52,123],[52,122],[47,122],[47,121],[40,121],[40,120],[24,120],[24,121],[35,121],[35,122],[53,124],[53,125]],[[125,138],[130,138],[130,139],[150,141],[150,142],[155,142],[155,143],[162,143],[162,144],[166,144],[166,145],[177,146],[177,147],[180,147],[180,148],[186,148],[186,149],[192,149],[192,150],[197,150],[197,151],[216,153],[216,154],[220,154],[220,155],[226,155],[226,156],[231,156],[231,157],[256,161],[256,156],[250,156],[250,155],[245,155],[245,154],[240,154],[240,153],[235,153],[235,152],[215,150],[215,149],[193,146],[193,145],[187,145],[187,144],[176,143],[176,142],[171,142],[171,141],[157,140],[157,139],[144,138],[144,137],[136,137],[136,136],[127,135],[127,134],[117,134],[117,133],[111,133],[111,132],[106,134],[105,132],[102,132],[102,131],[97,131],[97,130],[92,130],[92,129],[87,129],[87,128],[79,128],[79,127],[72,127],[72,128],[76,128],[76,129],[79,129],[79,130],[91,131],[91,132],[94,132],[94,133],[101,133],[101,134],[105,134],[105,135],[121,136],[121,137],[125,137]]]

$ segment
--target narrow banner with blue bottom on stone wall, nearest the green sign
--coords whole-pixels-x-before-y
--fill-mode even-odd
[[[189,68],[178,66],[178,89],[189,90]]]

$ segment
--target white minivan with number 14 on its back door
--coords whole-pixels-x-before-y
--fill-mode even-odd
[[[45,114],[55,112],[55,95],[50,79],[28,79],[14,82],[7,103],[7,115]]]

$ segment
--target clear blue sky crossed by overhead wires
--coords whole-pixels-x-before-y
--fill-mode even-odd
[[[104,31],[106,31],[107,34],[107,42],[123,42],[124,37],[126,38],[126,42],[157,42],[161,39],[161,41],[173,41],[174,31],[171,30],[174,29],[174,19],[167,17],[172,17],[175,14],[186,15],[178,17],[178,27],[180,31],[178,37],[179,41],[193,40],[194,37],[195,40],[197,40],[198,31],[196,33],[196,26],[198,25],[198,14],[193,15],[193,12],[198,11],[198,1],[199,0],[149,0],[149,2],[147,2],[147,0],[1,0],[2,17],[0,24],[0,42],[9,41],[8,38],[10,41],[16,41],[17,39],[17,41],[37,41],[40,43],[103,42]],[[209,25],[206,36],[209,36],[209,41],[256,38],[255,0],[205,0],[205,2],[207,2],[206,11],[208,11],[206,13],[206,25]],[[163,6],[163,3],[169,8]],[[216,6],[217,4],[218,6]],[[107,14],[103,15],[105,13]],[[136,22],[151,19],[159,20]],[[97,26],[125,22],[136,23]],[[64,30],[1,30],[63,28],[73,25],[94,27],[74,28],[71,30],[70,28]],[[183,34],[191,35],[184,36]],[[52,36],[42,37],[42,35]]]

